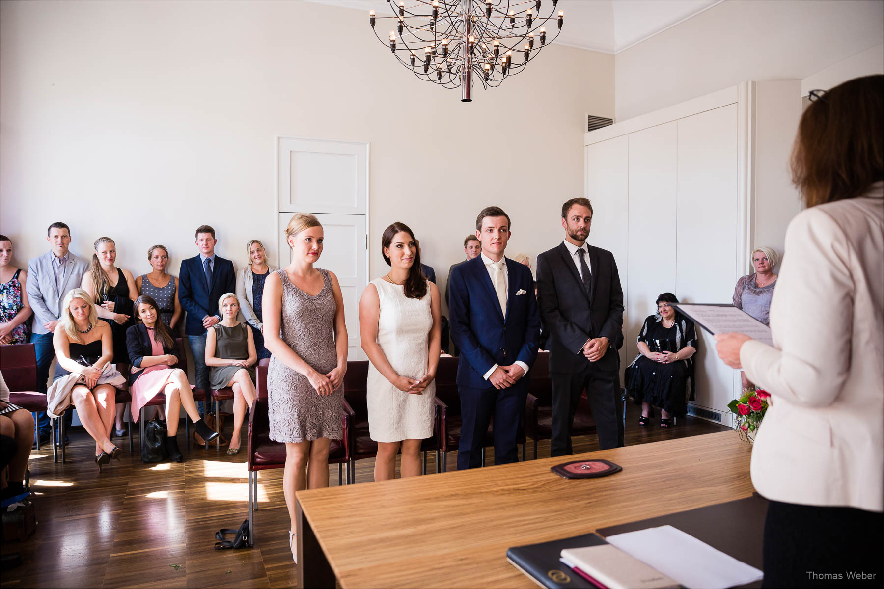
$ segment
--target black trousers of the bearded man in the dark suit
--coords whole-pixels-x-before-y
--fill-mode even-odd
[[[620,372],[599,370],[590,364],[582,372],[550,373],[552,381],[552,450],[550,456],[573,454],[571,429],[577,403],[586,389],[592,418],[596,422],[600,449],[620,448],[623,445],[622,400]]]

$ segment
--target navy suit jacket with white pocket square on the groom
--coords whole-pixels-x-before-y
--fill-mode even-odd
[[[506,321],[482,256],[457,266],[449,278],[448,313],[452,339],[461,351],[457,383],[463,387],[492,388],[483,378],[492,366],[521,360],[530,367],[537,358],[540,314],[534,278],[527,266],[505,260],[509,278]],[[524,292],[517,295],[519,291]]]

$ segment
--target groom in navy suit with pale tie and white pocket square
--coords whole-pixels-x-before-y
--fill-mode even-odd
[[[537,358],[540,315],[528,267],[504,257],[509,216],[498,207],[476,217],[482,254],[454,268],[449,309],[454,344],[461,350],[459,470],[482,464],[484,438],[494,419],[494,464],[516,462],[529,377]]]

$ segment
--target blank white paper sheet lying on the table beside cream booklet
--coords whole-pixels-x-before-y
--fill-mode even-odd
[[[671,525],[620,533],[605,540],[690,589],[745,585],[764,576],[755,567]]]

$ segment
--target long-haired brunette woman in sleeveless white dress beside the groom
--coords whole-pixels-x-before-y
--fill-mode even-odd
[[[441,346],[436,284],[421,273],[417,239],[403,223],[382,238],[390,272],[372,280],[359,302],[362,350],[370,359],[369,434],[377,442],[375,480],[421,473],[421,442],[433,434],[433,398]]]

